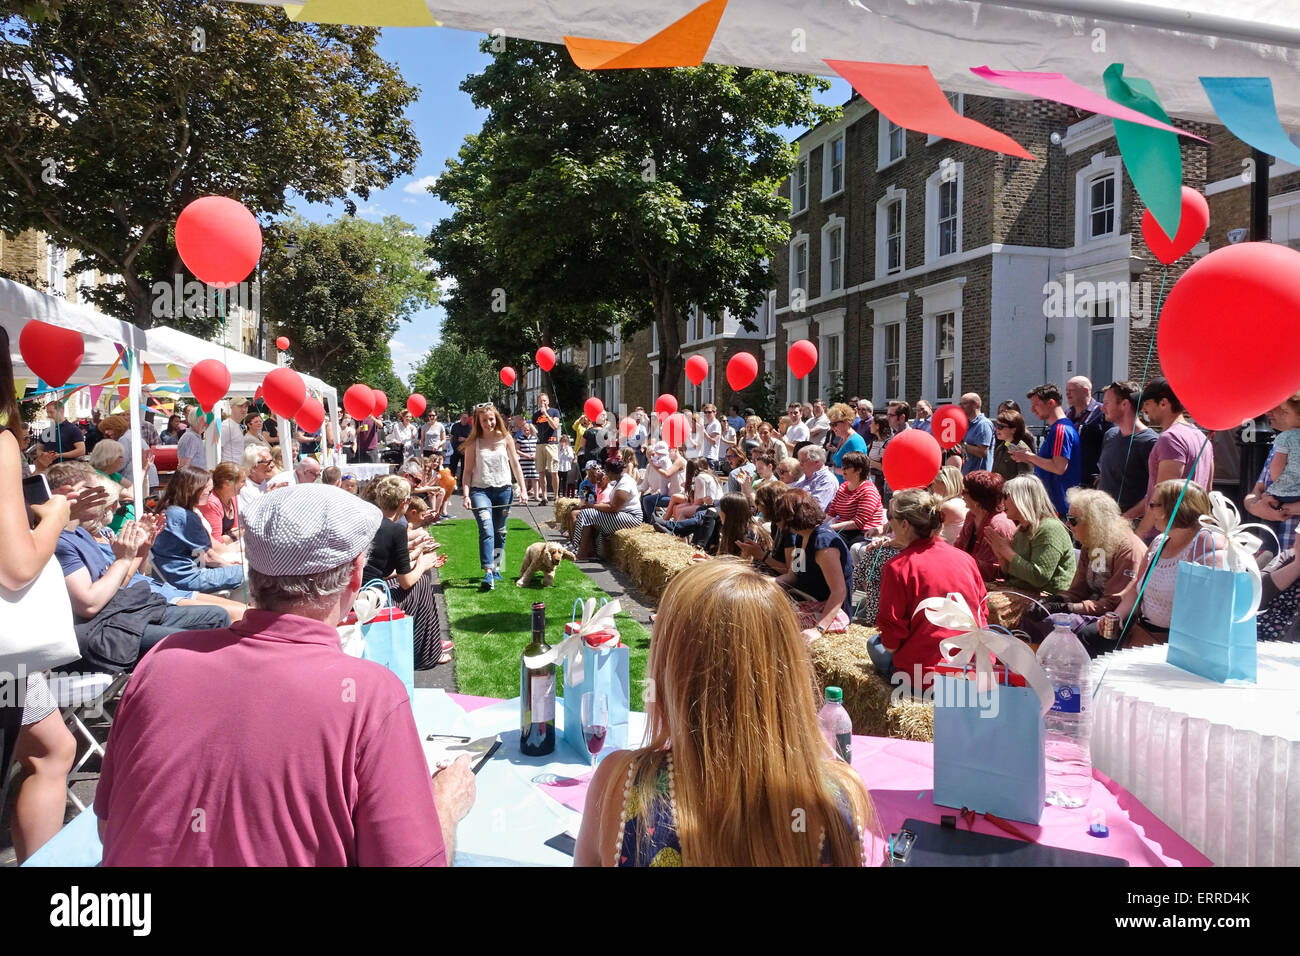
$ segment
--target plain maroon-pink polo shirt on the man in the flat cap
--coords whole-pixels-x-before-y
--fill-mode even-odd
[[[105,866],[445,866],[402,680],[338,631],[250,610],[140,661],[95,813]]]

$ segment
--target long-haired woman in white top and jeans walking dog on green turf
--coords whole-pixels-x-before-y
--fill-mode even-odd
[[[473,511],[478,523],[478,561],[484,570],[484,591],[491,591],[502,579],[500,564],[506,559],[506,520],[515,501],[511,481],[520,493],[528,485],[519,467],[515,441],[506,429],[506,420],[491,402],[476,405],[469,437],[460,445],[465,458],[464,486],[465,511]]]

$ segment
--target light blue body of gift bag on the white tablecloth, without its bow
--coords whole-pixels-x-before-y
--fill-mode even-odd
[[[1180,562],[1165,659],[1219,683],[1254,680],[1253,600],[1247,572]]]

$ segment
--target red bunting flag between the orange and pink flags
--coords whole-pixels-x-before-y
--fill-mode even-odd
[[[855,60],[827,60],[826,64],[848,79],[867,103],[896,126],[1009,156],[1034,159],[1028,150],[1005,133],[953,109],[928,66]]]

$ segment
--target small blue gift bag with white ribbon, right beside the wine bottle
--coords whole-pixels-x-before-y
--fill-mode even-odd
[[[586,604],[576,601],[577,607],[581,607],[581,618],[564,628],[566,637],[559,646],[559,659],[564,666],[564,740],[577,753],[588,753],[582,739],[582,695],[603,693],[608,702],[603,756],[628,747],[632,650],[620,643],[614,624],[614,617],[620,610],[618,601],[597,609],[595,600],[589,598]]]

